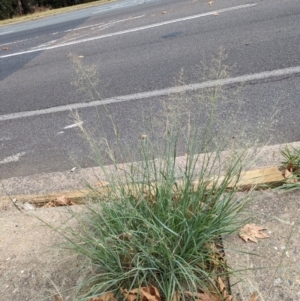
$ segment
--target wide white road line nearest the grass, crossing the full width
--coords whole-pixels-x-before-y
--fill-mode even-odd
[[[70,110],[91,108],[91,107],[96,107],[96,106],[101,106],[101,105],[108,105],[108,104],[112,104],[112,103],[120,103],[120,102],[126,102],[126,101],[131,101],[131,100],[140,100],[140,99],[151,98],[151,97],[168,96],[170,94],[181,93],[184,91],[196,91],[196,90],[212,88],[212,87],[216,87],[216,86],[225,86],[225,85],[232,85],[232,84],[237,84],[237,83],[245,83],[245,82],[254,81],[254,80],[262,80],[262,79],[268,79],[268,78],[272,78],[272,77],[287,76],[287,75],[293,75],[293,74],[300,74],[300,66],[285,68],[285,69],[277,69],[277,70],[272,70],[272,71],[265,71],[265,72],[254,73],[254,74],[247,74],[247,75],[231,77],[231,78],[226,78],[226,79],[212,80],[212,81],[196,83],[196,84],[191,84],[191,85],[171,87],[171,88],[166,88],[166,89],[161,89],[161,90],[156,90],[156,91],[149,91],[149,92],[124,95],[124,96],[117,96],[117,97],[112,97],[112,98],[103,99],[103,100],[95,100],[95,101],[91,101],[88,103],[87,102],[74,103],[74,104],[70,104],[70,105],[52,107],[52,108],[36,110],[36,111],[26,111],[26,112],[5,114],[5,115],[0,115],[0,121],[19,119],[19,118],[25,118],[25,117],[33,117],[33,116],[39,116],[39,115],[45,115],[45,114],[53,114],[53,113],[57,113],[57,112],[65,112],[65,111],[70,111]]]

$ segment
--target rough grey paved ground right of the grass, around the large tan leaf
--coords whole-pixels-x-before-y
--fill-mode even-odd
[[[255,192],[248,214],[269,238],[245,243],[232,235],[224,240],[229,265],[240,271],[231,278],[234,298],[248,301],[257,291],[260,301],[300,300],[300,190]]]

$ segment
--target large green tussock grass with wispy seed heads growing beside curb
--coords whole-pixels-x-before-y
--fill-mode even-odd
[[[93,71],[89,76],[81,60],[71,58],[77,83],[90,97],[100,99]],[[214,64],[210,74],[224,78],[227,67],[221,59]],[[91,187],[94,202],[84,213],[72,212],[77,226],[58,230],[69,248],[88,259],[91,272],[80,286],[78,300],[106,292],[122,299],[126,298],[122,289],[150,285],[162,300],[174,300],[178,293],[182,300],[191,299],[186,291],[217,292],[217,278],[226,279],[231,273],[221,237],[246,223],[242,211],[247,194],[239,199],[241,195],[227,187],[240,179],[247,151],[237,147],[237,139],[234,144],[223,139],[224,132],[215,123],[222,89],[201,91],[192,108],[190,96],[182,92],[162,100],[159,107],[147,107],[147,114],[141,110],[142,118],[148,119],[134,149],[124,143],[122,129],[105,106],[101,110],[110,122],[114,143],[107,138],[109,129],[98,111],[101,139],[80,125],[102,169],[101,180],[109,186],[105,197]],[[228,123],[236,111],[228,109]],[[79,121],[79,114],[74,115]],[[110,166],[104,163],[107,157]],[[126,164],[120,164],[123,159]]]

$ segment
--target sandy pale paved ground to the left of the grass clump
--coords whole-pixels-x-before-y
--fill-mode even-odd
[[[84,271],[79,258],[61,250],[63,241],[40,219],[57,226],[68,220],[68,208],[0,212],[0,300],[72,300]]]

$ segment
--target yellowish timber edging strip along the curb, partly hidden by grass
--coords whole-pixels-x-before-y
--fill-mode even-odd
[[[225,177],[219,177],[218,182],[222,182]],[[246,171],[241,174],[241,177],[236,183],[236,181],[232,181],[232,185],[229,184],[228,188],[233,187],[261,187],[262,185],[271,185],[277,183],[283,183],[285,178],[282,173],[279,171],[277,167],[265,167],[255,170]],[[211,180],[213,182],[213,180]],[[195,181],[194,187],[197,187],[197,181]],[[208,184],[208,187],[210,184]],[[210,186],[211,187],[211,186]],[[124,187],[125,190],[136,190],[137,187],[134,185],[126,185]],[[105,198],[108,196],[110,189],[109,185],[102,185],[100,187],[94,188],[95,193],[97,195],[103,196]],[[73,191],[60,191],[56,193],[48,193],[44,195],[13,195],[13,196],[0,196],[0,203],[7,202],[12,200],[17,200],[18,202],[28,202],[30,204],[34,204],[37,206],[43,206],[49,202],[56,201],[58,198],[64,197],[68,202],[76,203],[76,204],[84,204],[86,203],[86,198],[91,195],[93,190],[91,189],[82,189],[82,190],[73,190]]]

